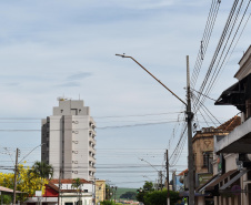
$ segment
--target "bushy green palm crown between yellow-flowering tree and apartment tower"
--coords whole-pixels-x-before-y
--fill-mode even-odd
[[[53,176],[53,167],[46,162],[34,162],[31,172],[42,178],[51,178]]]

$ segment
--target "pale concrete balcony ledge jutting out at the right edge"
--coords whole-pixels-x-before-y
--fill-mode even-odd
[[[217,136],[214,136],[217,142]],[[251,153],[251,117],[235,127],[229,135],[214,143],[214,152],[219,153]]]

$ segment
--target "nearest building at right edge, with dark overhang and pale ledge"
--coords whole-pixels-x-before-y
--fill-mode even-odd
[[[251,204],[251,47],[239,65],[239,81],[215,102],[241,111],[241,124],[224,137],[214,136],[214,176],[203,187],[214,205]]]

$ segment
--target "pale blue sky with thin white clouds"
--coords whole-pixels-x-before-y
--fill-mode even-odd
[[[21,162],[32,165],[40,160],[41,119],[52,114],[57,98],[64,96],[83,100],[97,122],[97,178],[120,187],[155,182],[158,171],[164,170],[165,150],[171,156],[179,142],[185,107],[131,59],[116,53],[133,57],[185,101],[185,57],[190,57],[192,73],[211,2],[1,1],[2,172],[13,166],[17,147]],[[231,7],[232,1],[221,1],[195,90],[205,76]],[[237,82],[233,75],[250,45],[250,31],[248,21],[210,98],[218,99]],[[233,106],[215,106],[210,100],[204,105],[221,123],[239,112]],[[197,119],[198,129],[217,126],[199,113]],[[180,157],[171,158],[178,161],[171,171],[187,168],[187,153],[183,142]]]

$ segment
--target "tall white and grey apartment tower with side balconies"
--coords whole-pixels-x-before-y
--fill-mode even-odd
[[[41,160],[53,177],[94,180],[96,123],[82,100],[59,99],[53,115],[42,120]]]

